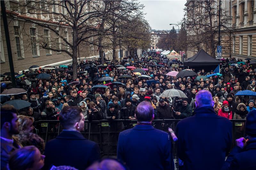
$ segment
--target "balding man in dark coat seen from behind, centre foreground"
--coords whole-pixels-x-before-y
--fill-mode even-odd
[[[138,125],[119,134],[117,159],[132,170],[174,169],[170,136],[151,125],[154,119],[152,105],[141,102],[135,114]]]

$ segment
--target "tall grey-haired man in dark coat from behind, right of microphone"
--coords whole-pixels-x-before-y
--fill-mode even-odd
[[[216,115],[213,105],[209,91],[197,92],[195,115],[176,126],[178,156],[184,169],[216,170],[225,162],[232,143],[232,123]]]

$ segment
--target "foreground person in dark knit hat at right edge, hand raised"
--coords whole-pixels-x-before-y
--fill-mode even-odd
[[[247,139],[236,139],[236,146],[228,155],[224,169],[256,169],[256,111],[246,116],[245,133]]]

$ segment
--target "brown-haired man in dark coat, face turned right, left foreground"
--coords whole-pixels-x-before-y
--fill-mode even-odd
[[[50,169],[52,165],[86,169],[100,159],[99,145],[85,139],[80,133],[84,130],[84,115],[81,108],[64,107],[60,113],[60,124],[64,130],[45,146],[44,169]]]

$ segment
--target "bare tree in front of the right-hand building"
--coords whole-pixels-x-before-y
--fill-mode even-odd
[[[215,50],[218,45],[219,24],[221,33],[230,37],[231,19],[225,9],[220,11],[220,23],[218,1],[214,0],[197,0],[192,1],[189,8],[185,8],[185,15],[180,22],[186,27],[188,33],[188,48],[196,47],[199,51],[201,48],[209,49],[210,55],[215,57]],[[221,43],[227,43],[227,39],[221,39]],[[207,50],[206,50],[207,51]]]

